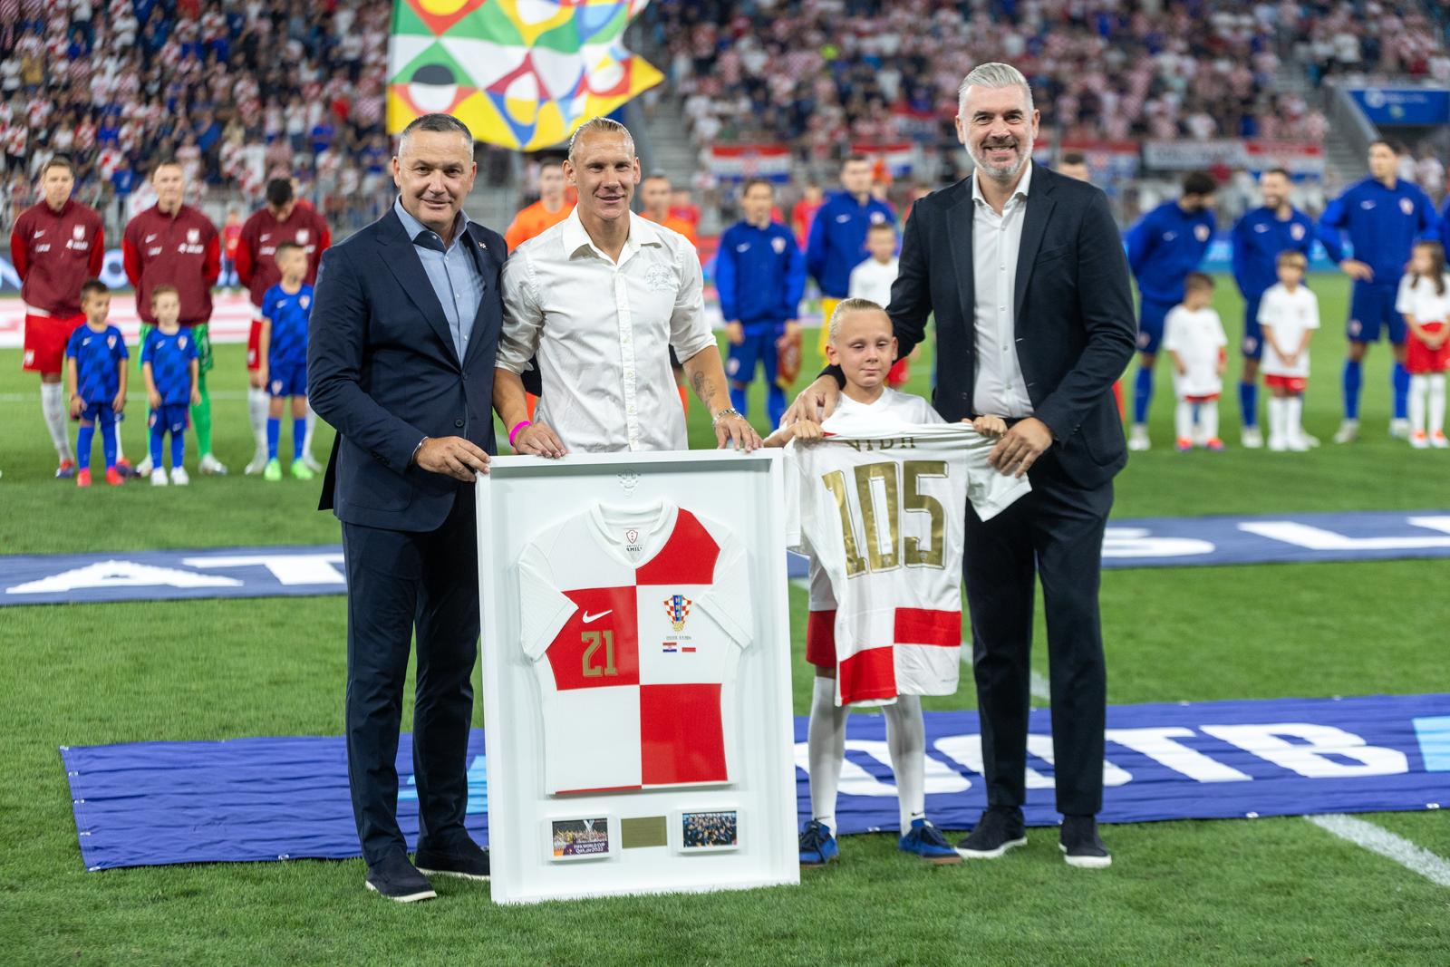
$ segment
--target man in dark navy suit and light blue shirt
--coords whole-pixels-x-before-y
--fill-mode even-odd
[[[468,222],[473,136],[455,117],[410,123],[399,197],[322,257],[307,396],[336,428],[320,509],[342,520],[348,573],[348,781],[367,887],[434,896],[420,873],[489,877],[464,832],[478,639],[474,477],[489,471],[493,364],[508,246]],[[397,734],[418,639],[413,771],[418,867],[397,826]]]

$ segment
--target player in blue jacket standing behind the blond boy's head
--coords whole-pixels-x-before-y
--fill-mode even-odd
[[[851,270],[866,261],[866,232],[880,222],[896,223],[896,212],[871,197],[871,162],[848,155],[841,162],[841,187],[831,194],[806,238],[806,271],[821,287],[821,357],[825,357],[831,313],[850,294]]]

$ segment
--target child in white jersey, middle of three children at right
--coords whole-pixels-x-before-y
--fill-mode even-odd
[[[1304,284],[1309,260],[1302,252],[1279,252],[1279,283],[1259,303],[1269,387],[1269,449],[1305,451],[1312,445],[1304,432],[1304,387],[1309,381],[1309,339],[1320,328],[1320,300]]]

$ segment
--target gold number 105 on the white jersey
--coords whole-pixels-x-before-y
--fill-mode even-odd
[[[924,477],[945,477],[947,464],[940,460],[886,460],[877,464],[861,464],[854,471],[856,499],[861,507],[861,523],[864,525],[866,554],[861,557],[860,545],[856,539],[856,520],[851,515],[851,502],[847,499],[845,473],[832,470],[821,477],[821,483],[835,497],[835,509],[841,515],[841,538],[845,547],[845,576],[856,577],[867,571],[892,571],[900,567],[905,558],[906,567],[942,567],[945,545],[942,531],[947,515],[941,509],[941,502],[921,493]],[[886,496],[886,506],[876,506],[876,489],[873,480],[882,481]],[[899,494],[899,499],[898,499]],[[900,539],[900,509],[908,513],[925,513],[929,520],[929,544],[922,548],[921,539],[906,538],[905,547]],[[880,531],[877,529],[877,515],[884,510],[886,534],[890,542],[887,551],[882,551]]]

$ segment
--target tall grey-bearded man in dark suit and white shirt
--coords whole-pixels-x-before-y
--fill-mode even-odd
[[[982,715],[987,810],[957,851],[999,857],[1022,825],[1034,577],[1047,609],[1053,748],[1067,863],[1105,867],[1106,677],[1098,584],[1112,477],[1127,464],[1112,384],[1132,357],[1128,264],[1103,193],[1032,167],[1038,113],[1016,68],[985,64],[961,84],[957,135],[972,177],[916,202],[890,316],[900,355],[937,319],[937,410],[1008,418],[992,451],[1032,493],[983,523],[969,506],[967,605]],[[826,371],[796,400],[813,419],[838,391]]]

